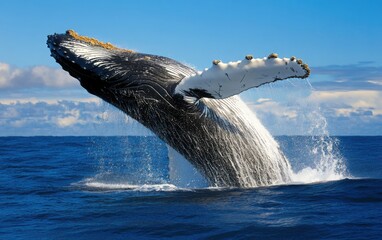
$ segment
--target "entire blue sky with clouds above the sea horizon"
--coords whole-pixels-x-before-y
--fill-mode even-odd
[[[382,1],[0,0],[0,136],[147,135],[82,89],[46,37],[74,29],[198,70],[247,54],[312,72],[242,99],[274,135],[382,135]]]

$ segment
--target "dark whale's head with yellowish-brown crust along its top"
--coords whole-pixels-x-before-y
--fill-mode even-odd
[[[172,59],[121,49],[72,30],[49,35],[47,45],[88,92],[122,110],[142,101],[171,100],[175,83],[195,74]]]

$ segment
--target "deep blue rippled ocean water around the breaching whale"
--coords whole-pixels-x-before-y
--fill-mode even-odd
[[[155,137],[3,137],[0,239],[382,239],[382,137],[337,139],[345,178],[187,189]],[[325,155],[277,140],[296,172]]]

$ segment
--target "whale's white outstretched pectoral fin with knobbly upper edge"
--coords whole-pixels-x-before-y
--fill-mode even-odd
[[[238,62],[222,63],[214,60],[212,67],[186,77],[175,88],[185,98],[227,98],[247,89],[287,78],[307,78],[308,65],[302,60],[278,58],[273,53],[267,58],[248,55]]]

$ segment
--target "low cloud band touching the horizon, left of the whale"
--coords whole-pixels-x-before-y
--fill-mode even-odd
[[[99,99],[0,101],[0,136],[150,135]]]

